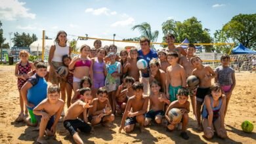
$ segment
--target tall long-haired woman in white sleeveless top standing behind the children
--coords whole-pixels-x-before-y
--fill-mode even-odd
[[[66,100],[65,84],[66,81],[56,73],[56,69],[64,66],[62,63],[62,56],[68,54],[70,56],[72,48],[67,45],[67,33],[65,31],[58,31],[55,45],[52,45],[49,52],[48,63],[50,65],[49,82],[52,84],[60,84],[61,99]]]

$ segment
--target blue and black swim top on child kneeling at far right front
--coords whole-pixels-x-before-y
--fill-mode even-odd
[[[219,118],[219,111],[221,110],[221,105],[223,104],[223,99],[219,98],[219,105],[217,107],[213,107],[213,97],[210,96],[211,101],[211,109],[213,109],[213,120]],[[208,118],[208,111],[206,109],[206,105],[203,105],[202,117]]]

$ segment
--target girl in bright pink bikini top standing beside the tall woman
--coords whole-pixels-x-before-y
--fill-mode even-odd
[[[81,54],[73,58],[70,65],[68,66],[69,69],[74,69],[74,92],[76,92],[76,90],[79,88],[79,83],[83,77],[87,76],[93,79],[93,64],[91,60],[88,58],[90,50],[90,46],[82,45],[80,48]]]

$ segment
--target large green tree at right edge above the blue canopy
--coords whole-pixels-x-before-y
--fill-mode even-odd
[[[223,26],[228,38],[256,50],[256,14],[238,14]]]

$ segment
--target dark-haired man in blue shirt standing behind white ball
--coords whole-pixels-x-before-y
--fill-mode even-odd
[[[149,69],[149,62],[152,58],[158,58],[158,53],[150,48],[150,39],[143,37],[140,39],[140,47],[141,49],[138,51],[138,60],[144,59],[148,62],[148,67],[146,69],[141,69],[141,80],[144,84],[144,94],[149,93],[149,77],[150,77],[150,69]]]

